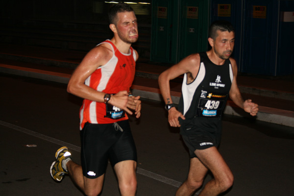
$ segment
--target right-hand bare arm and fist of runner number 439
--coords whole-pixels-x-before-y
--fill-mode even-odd
[[[236,61],[232,58],[230,58],[232,69],[233,69],[233,81],[232,86],[230,89],[230,98],[234,101],[236,105],[241,107],[245,110],[245,112],[250,113],[251,116],[256,116],[258,112],[258,105],[256,103],[253,103],[251,99],[244,100],[241,96],[240,90],[237,85],[237,65]]]

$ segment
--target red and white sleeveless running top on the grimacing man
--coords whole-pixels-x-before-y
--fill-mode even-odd
[[[128,54],[124,54],[110,40],[105,40],[100,44],[109,44],[113,56],[105,65],[92,73],[86,79],[85,84],[99,92],[108,94],[116,94],[120,91],[129,92],[135,76],[136,53],[133,48],[130,48]],[[104,117],[105,115],[105,103],[84,99],[80,108],[80,130],[87,122],[105,124],[128,119],[127,115],[121,119],[110,119]]]

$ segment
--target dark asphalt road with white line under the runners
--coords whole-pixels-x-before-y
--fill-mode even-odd
[[[0,90],[0,195],[82,195],[68,176],[56,183],[49,174],[56,149],[65,143],[79,163],[81,99],[64,84],[4,74]],[[169,127],[156,101],[143,100],[141,119],[131,117],[130,123],[138,150],[137,196],[173,196],[189,167],[178,129]],[[235,177],[223,195],[294,195],[293,128],[225,116],[220,151]],[[110,166],[102,195],[119,195]]]

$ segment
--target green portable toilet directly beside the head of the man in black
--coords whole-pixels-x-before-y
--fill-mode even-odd
[[[206,51],[208,46],[209,0],[180,0],[178,58]]]

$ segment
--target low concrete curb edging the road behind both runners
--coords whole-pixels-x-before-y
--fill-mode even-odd
[[[59,82],[64,84],[68,83],[69,78],[71,76],[71,74],[55,73],[55,72],[49,72],[44,70],[37,70],[37,69],[5,65],[5,64],[0,64],[0,72],[20,75],[25,77],[32,77],[37,79],[43,79],[43,80]],[[147,98],[147,99],[156,100],[156,101],[163,101],[160,90],[157,88],[133,85],[132,93],[135,96],[140,96],[141,98]],[[172,101],[175,104],[178,104],[180,93],[171,92],[171,94],[172,94]],[[247,114],[245,114],[245,112],[241,108],[234,105],[231,101],[227,102],[226,108],[224,110],[224,114],[240,116],[240,117],[247,116]],[[256,120],[294,127],[294,112],[260,106],[259,113],[256,117]]]

